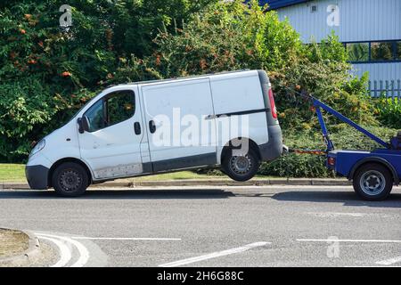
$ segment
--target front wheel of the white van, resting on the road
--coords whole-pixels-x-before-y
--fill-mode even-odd
[[[65,162],[55,168],[53,188],[63,197],[77,197],[85,193],[89,177],[84,167],[75,162]]]

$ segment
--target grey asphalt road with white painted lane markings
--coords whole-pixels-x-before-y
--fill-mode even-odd
[[[401,189],[269,186],[0,191],[0,226],[36,232],[55,266],[401,265]]]

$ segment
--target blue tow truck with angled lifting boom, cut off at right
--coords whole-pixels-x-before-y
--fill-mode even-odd
[[[398,132],[390,142],[384,142],[314,96],[302,95],[307,97],[315,108],[327,149],[325,151],[291,150],[291,152],[325,155],[326,166],[334,170],[337,175],[352,180],[356,194],[362,199],[383,200],[388,198],[393,185],[398,185],[401,178],[401,132]],[[357,131],[379,143],[382,148],[373,151],[336,151],[324,123],[322,110],[331,113],[349,126],[355,127]]]

